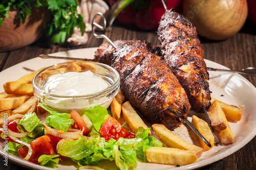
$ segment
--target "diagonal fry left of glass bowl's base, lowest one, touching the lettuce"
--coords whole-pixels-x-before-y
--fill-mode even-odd
[[[11,113],[13,114],[26,114],[30,111],[35,112],[36,106],[38,104],[38,100],[36,99],[35,96],[32,96],[29,100],[27,100],[25,103],[20,105],[18,108],[14,109]],[[34,106],[33,106],[34,105]],[[30,108],[33,106],[33,108],[30,110]]]

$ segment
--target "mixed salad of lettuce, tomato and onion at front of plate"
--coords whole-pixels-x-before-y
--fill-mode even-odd
[[[131,169],[136,168],[138,159],[147,161],[147,149],[164,146],[148,136],[150,129],[140,127],[136,133],[126,130],[102,106],[81,110],[80,114],[75,110],[59,113],[40,102],[38,106],[49,112],[45,123],[30,112],[12,115],[3,124],[1,137],[8,141],[4,151],[52,168],[71,159],[79,166],[97,166],[101,160],[109,160],[120,169]]]

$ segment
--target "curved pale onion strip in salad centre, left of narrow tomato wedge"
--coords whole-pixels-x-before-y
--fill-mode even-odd
[[[84,128],[82,131],[78,129],[69,129],[68,132],[63,132],[59,131],[57,129],[53,129],[48,127],[46,124],[42,124],[45,129],[45,135],[50,134],[55,137],[60,137],[60,138],[70,138],[70,139],[78,139],[79,136],[83,136],[82,133],[84,131]]]

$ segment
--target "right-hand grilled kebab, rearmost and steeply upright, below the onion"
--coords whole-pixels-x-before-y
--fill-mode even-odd
[[[191,109],[203,112],[210,106],[207,67],[196,28],[184,16],[166,11],[157,31],[161,56],[185,89]]]

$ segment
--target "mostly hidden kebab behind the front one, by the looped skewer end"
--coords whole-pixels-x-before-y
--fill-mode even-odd
[[[116,46],[120,46],[122,44],[126,45],[134,45],[140,48],[144,48],[149,52],[152,52],[154,54],[160,55],[161,50],[159,46],[153,46],[151,43],[146,41],[140,41],[140,40],[130,40],[130,41],[124,41],[124,40],[117,40],[114,42]],[[105,63],[108,65],[111,65],[112,60],[114,59],[113,53],[115,52],[115,48],[110,43],[103,43],[99,46],[97,51],[95,52],[95,58],[93,61]]]

